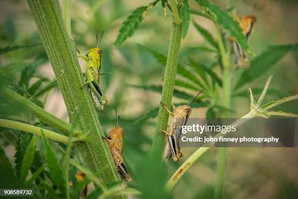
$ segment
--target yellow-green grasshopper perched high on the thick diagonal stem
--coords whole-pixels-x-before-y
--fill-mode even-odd
[[[102,32],[103,35],[103,32]],[[102,38],[101,35],[101,38]],[[100,39],[101,40],[101,39]],[[88,90],[93,98],[94,104],[96,108],[99,110],[103,110],[104,106],[107,104],[107,98],[102,94],[101,88],[99,86],[99,75],[101,69],[102,62],[102,49],[98,47],[99,43],[97,42],[96,35],[96,47],[91,48],[87,51],[86,55],[80,53],[78,49],[76,49],[79,57],[87,62],[86,65],[86,80],[81,88],[85,85],[88,86]]]

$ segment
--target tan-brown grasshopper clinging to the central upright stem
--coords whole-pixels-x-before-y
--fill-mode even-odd
[[[204,90],[204,89],[203,89]],[[169,131],[162,130],[161,132],[165,133],[166,138],[166,148],[165,148],[165,159],[168,161],[171,157],[173,157],[174,161],[179,161],[179,158],[183,157],[183,154],[180,149],[179,139],[181,137],[181,128],[186,124],[187,119],[191,113],[190,104],[192,104],[196,98],[203,92],[200,91],[196,97],[191,100],[187,105],[175,107],[174,104],[171,104],[173,108],[173,112],[165,106],[165,104],[161,101],[160,104],[166,109],[168,114],[172,116],[174,119],[171,121],[171,125],[169,126]]]

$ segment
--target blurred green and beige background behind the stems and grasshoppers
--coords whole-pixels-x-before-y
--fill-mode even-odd
[[[71,0],[71,17],[75,44],[83,53],[95,46],[95,34],[100,35],[105,31],[100,42],[104,53],[102,72],[112,74],[101,76],[108,105],[104,111],[98,112],[99,119],[107,135],[116,125],[114,107],[117,107],[118,114],[121,116],[120,126],[125,129],[124,158],[134,179],[131,186],[143,190],[145,195],[150,196],[148,198],[155,198],[154,193],[150,192],[161,190],[165,181],[179,167],[179,163],[169,161],[167,166],[163,167],[146,159],[151,148],[156,118],[138,122],[136,120],[159,105],[160,93],[138,89],[131,85],[162,85],[165,68],[142,46],[167,55],[171,17],[165,16],[161,5],[158,4],[153,9],[149,9],[146,19],[130,39],[120,47],[113,45],[121,23],[130,12],[149,2],[148,0]],[[227,8],[229,3],[228,0],[212,2],[223,8]],[[264,8],[254,9],[255,2],[259,6],[264,5]],[[257,23],[249,40],[250,49],[256,55],[265,50],[268,45],[298,41],[298,2],[296,0],[239,0],[232,3],[237,5],[238,15],[257,16]],[[189,4],[192,8],[199,8],[193,0],[190,0]],[[0,5],[1,48],[40,42],[26,1],[1,0]],[[210,21],[194,15],[192,17],[215,37],[215,29]],[[187,36],[182,40],[180,62],[187,62],[191,57],[207,66],[212,65],[216,59],[213,54],[191,48],[202,45],[208,44],[190,24]],[[36,63],[37,60],[41,64],[37,64],[29,85],[33,85],[40,76],[47,79],[42,82],[42,85],[46,85],[55,76],[42,44],[0,55],[0,66],[9,69],[5,72],[19,81],[22,70]],[[82,60],[79,61],[84,71],[85,63]],[[263,87],[270,75],[274,75],[271,88],[291,95],[298,94],[297,52],[288,53],[249,86]],[[221,77],[220,74],[219,76]],[[248,85],[245,86],[248,88]],[[179,87],[177,89],[192,96],[197,93]],[[277,100],[277,97],[267,96],[265,99],[265,101],[270,100]],[[41,98],[41,101],[45,102],[44,108],[47,111],[68,121],[65,104],[57,87]],[[179,103],[183,100],[173,98],[173,101]],[[248,98],[234,98],[232,104],[233,110],[236,111],[234,117],[241,117],[249,111]],[[3,114],[4,103],[1,104],[1,109]],[[298,103],[291,102],[281,106],[280,109],[298,113]],[[207,108],[196,108],[191,117],[205,118],[206,110]],[[34,121],[21,114],[17,118],[27,120],[29,123]],[[11,130],[10,133],[7,135],[17,138],[18,132]],[[5,145],[6,155],[13,162],[15,146],[11,140],[13,138],[7,139],[7,136],[1,134],[0,142]],[[57,154],[61,156],[60,144],[51,143]],[[195,148],[183,149],[184,157],[181,162],[186,160],[194,150]],[[225,176],[226,198],[297,198],[297,152],[297,148],[229,148]],[[73,156],[79,156],[75,150]],[[174,187],[173,198],[211,198],[216,181],[216,166],[217,149],[213,148],[205,153]]]

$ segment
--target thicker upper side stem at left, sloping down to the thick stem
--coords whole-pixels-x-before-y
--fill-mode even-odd
[[[23,98],[18,93],[12,91],[7,87],[3,86],[1,88],[0,96],[12,105],[18,106],[21,104],[22,108],[24,108],[24,111],[32,114],[33,116],[47,123],[49,126],[57,129],[66,136],[71,130],[71,125],[69,123],[66,123],[65,121],[62,121],[61,119],[55,117],[54,115],[37,106],[35,103]]]

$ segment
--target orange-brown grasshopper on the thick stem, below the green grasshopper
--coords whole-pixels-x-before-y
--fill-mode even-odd
[[[119,126],[120,116],[117,116],[116,108],[115,111],[117,117],[117,126],[110,131],[107,142],[121,179],[131,182],[132,179],[127,171],[127,168],[124,164],[124,159],[122,157],[124,129]]]

